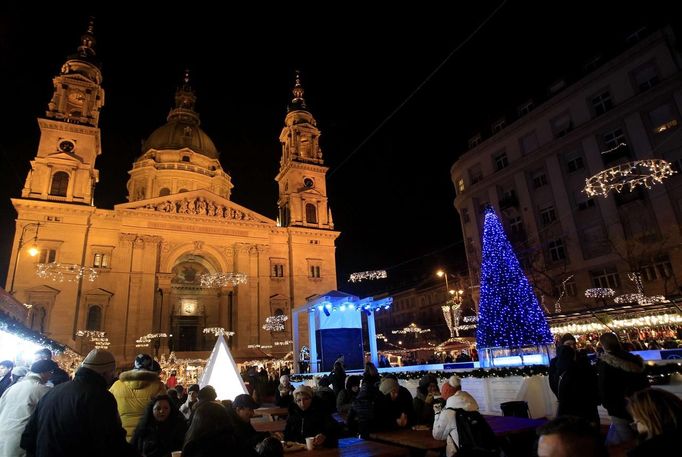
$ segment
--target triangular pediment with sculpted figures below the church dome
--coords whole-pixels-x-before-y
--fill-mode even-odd
[[[122,203],[114,206],[114,210],[148,211],[150,213],[196,216],[256,224],[277,224],[262,214],[244,208],[206,189]]]

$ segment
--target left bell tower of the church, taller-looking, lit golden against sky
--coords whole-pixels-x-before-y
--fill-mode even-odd
[[[44,118],[38,119],[40,142],[31,161],[22,198],[93,204],[101,154],[99,113],[104,105],[102,71],[95,55],[94,23],[75,54],[53,79],[54,92]]]

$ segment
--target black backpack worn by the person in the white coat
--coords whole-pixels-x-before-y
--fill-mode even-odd
[[[497,437],[478,411],[447,408],[455,411],[459,448],[457,457],[499,457]]]

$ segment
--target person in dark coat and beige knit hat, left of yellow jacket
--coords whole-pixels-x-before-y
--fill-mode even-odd
[[[38,402],[21,435],[27,454],[137,457],[126,442],[116,399],[107,390],[115,370],[111,352],[90,351],[73,381],[55,386]]]

